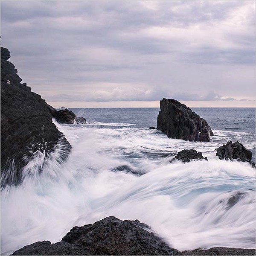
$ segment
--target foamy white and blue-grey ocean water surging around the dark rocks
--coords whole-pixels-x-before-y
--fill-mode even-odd
[[[35,241],[60,241],[73,226],[110,215],[145,222],[181,251],[255,248],[255,169],[215,156],[231,140],[255,161],[255,108],[193,108],[214,132],[209,143],[148,129],[157,126],[158,108],[70,110],[87,124],[54,121],[73,147],[67,162],[56,161],[56,148],[38,172],[44,161],[38,153],[23,183],[1,190],[1,255]],[[208,161],[169,163],[190,148]]]

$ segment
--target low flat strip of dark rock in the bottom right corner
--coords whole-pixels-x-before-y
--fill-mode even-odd
[[[213,247],[208,250],[186,250],[182,255],[255,255],[255,249]]]

